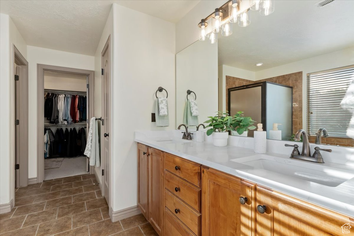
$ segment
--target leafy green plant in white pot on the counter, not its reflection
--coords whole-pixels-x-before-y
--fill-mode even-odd
[[[227,145],[227,139],[229,138],[229,130],[231,131],[233,127],[233,117],[229,116],[228,111],[217,111],[215,116],[208,116],[210,120],[204,123],[209,123],[206,127],[211,127],[206,131],[206,135],[213,135],[214,146],[224,147]]]

